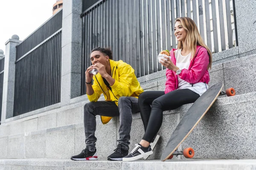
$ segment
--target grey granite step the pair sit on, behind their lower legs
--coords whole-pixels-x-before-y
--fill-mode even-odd
[[[160,141],[149,159],[160,159],[166,142],[189,105],[165,111],[160,128]],[[107,159],[119,139],[119,119],[102,125],[96,116],[96,147],[100,159]],[[181,144],[195,149],[194,159],[256,159],[256,93],[218,98],[206,116]],[[131,145],[144,134],[140,114],[134,114]],[[83,123],[53,127],[33,132],[0,137],[0,159],[69,159],[85,148]],[[183,156],[177,159],[184,159]]]

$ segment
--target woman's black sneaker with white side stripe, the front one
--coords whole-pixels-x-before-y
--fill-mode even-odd
[[[153,154],[153,151],[151,150],[150,145],[148,147],[143,147],[141,144],[136,144],[136,147],[134,147],[128,156],[123,158],[123,161],[135,161],[151,154]]]

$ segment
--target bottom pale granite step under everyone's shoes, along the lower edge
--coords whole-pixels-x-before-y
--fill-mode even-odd
[[[256,160],[71,161],[0,159],[0,170],[254,170]]]

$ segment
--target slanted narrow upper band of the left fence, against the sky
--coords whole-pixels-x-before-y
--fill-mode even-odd
[[[62,9],[16,47],[16,60],[62,28]]]

